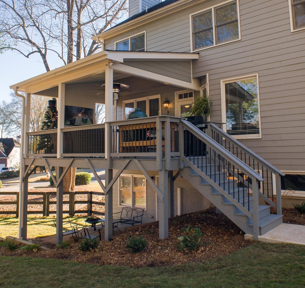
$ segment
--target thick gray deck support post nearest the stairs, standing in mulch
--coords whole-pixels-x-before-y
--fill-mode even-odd
[[[159,171],[159,189],[163,194],[163,202],[158,197],[159,238],[168,236],[168,171]]]

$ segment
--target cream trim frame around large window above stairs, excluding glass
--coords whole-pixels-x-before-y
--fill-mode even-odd
[[[251,79],[254,77],[256,77],[256,79],[257,79],[258,123],[260,125],[260,133],[259,134],[249,134],[249,135],[231,135],[235,139],[260,139],[262,137],[262,128],[261,128],[261,121],[260,121],[260,87],[259,87],[258,73],[220,80],[220,82],[221,82],[221,121],[223,123],[225,123],[225,124],[223,124],[222,130],[224,130],[224,132],[227,132],[226,97],[225,97],[224,84],[230,83],[232,81],[247,80],[247,79]]]

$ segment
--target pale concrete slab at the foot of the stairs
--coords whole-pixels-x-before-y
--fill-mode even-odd
[[[245,234],[245,239],[253,236]],[[258,236],[258,240],[267,243],[285,243],[305,245],[305,226],[282,223],[264,235]]]

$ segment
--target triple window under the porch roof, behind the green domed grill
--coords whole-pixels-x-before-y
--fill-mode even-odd
[[[158,116],[161,111],[161,97],[154,95],[123,101],[124,119],[127,119],[129,114],[135,111],[135,108],[141,108],[141,111],[147,116]]]

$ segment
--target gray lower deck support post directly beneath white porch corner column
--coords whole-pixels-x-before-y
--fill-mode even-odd
[[[105,169],[105,187],[107,188],[113,177],[112,169]],[[112,187],[105,194],[105,241],[109,241],[109,238],[113,236],[112,233]]]

